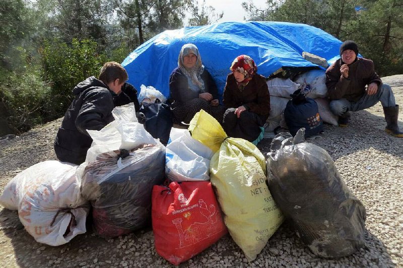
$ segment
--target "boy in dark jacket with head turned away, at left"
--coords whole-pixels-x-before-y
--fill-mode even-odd
[[[121,93],[126,80],[123,66],[111,61],[103,65],[99,79],[89,77],[73,89],[75,98],[64,114],[54,141],[54,151],[60,161],[77,165],[85,161],[92,143],[87,129],[101,130],[113,121],[114,97]]]

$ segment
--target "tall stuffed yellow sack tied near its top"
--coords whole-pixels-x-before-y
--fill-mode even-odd
[[[217,120],[203,110],[190,121],[189,131],[215,152],[210,180],[232,239],[251,261],[284,220],[266,184],[264,157],[250,142],[227,138]]]

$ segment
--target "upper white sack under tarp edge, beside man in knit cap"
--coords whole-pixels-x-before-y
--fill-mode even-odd
[[[306,95],[309,98],[327,97],[326,75],[324,70],[312,70],[296,77],[295,83],[309,84],[311,90]]]

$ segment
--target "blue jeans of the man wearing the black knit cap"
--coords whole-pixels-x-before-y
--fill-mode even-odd
[[[374,95],[364,94],[357,102],[348,101],[346,99],[330,101],[330,110],[335,115],[343,115],[348,111],[360,111],[374,106],[378,101],[381,102],[382,107],[394,107],[394,95],[389,85],[382,84],[378,87],[378,91]]]

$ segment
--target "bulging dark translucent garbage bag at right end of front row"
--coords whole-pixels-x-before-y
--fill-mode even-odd
[[[268,187],[297,235],[318,256],[338,258],[364,245],[366,211],[348,189],[329,154],[280,133],[267,159]]]

